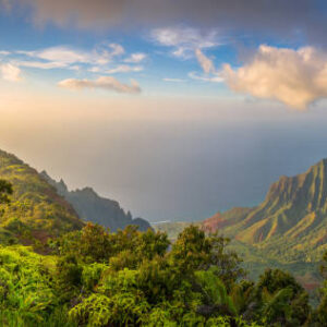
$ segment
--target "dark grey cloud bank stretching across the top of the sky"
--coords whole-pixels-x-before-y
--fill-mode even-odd
[[[327,13],[322,0],[2,0],[2,3],[7,10],[11,7],[12,12],[17,5],[27,9],[37,24],[134,28],[185,22],[239,32],[271,32],[283,37],[300,31],[311,40],[327,45]]]

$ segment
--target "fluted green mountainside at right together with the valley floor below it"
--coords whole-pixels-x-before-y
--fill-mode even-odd
[[[156,225],[171,240],[190,222]],[[231,239],[230,250],[244,258],[256,279],[267,267],[291,271],[307,289],[319,282],[318,263],[327,250],[327,159],[295,177],[280,177],[265,201],[235,207],[195,222]]]

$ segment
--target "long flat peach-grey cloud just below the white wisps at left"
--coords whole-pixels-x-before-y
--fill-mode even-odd
[[[131,81],[131,85],[123,84],[112,76],[100,76],[95,81],[90,80],[76,80],[68,78],[58,83],[60,87],[71,89],[83,89],[83,88],[102,88],[108,90],[116,90],[118,93],[138,94],[141,87],[136,81]]]

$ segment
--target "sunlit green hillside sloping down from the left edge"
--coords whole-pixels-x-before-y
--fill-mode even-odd
[[[2,150],[0,179],[13,185],[12,202],[0,213],[0,243],[45,242],[84,226],[74,208],[35,169]]]

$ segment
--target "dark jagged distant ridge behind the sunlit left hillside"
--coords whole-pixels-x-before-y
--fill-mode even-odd
[[[150,228],[150,225],[142,218],[132,218],[131,213],[125,213],[117,201],[99,196],[92,187],[69,191],[63,180],[57,182],[46,171],[40,173],[43,178],[53,185],[58,193],[63,196],[85,221],[92,221],[111,231],[124,229],[128,225],[136,225],[142,231]]]

